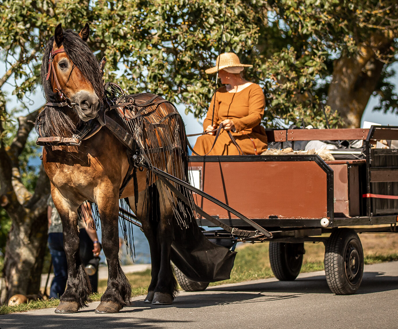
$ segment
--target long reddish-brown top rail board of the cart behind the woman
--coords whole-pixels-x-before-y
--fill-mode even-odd
[[[365,140],[369,129],[289,129],[287,140]],[[391,139],[391,138],[390,138]]]

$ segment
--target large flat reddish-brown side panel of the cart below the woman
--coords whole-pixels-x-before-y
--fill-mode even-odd
[[[248,218],[327,217],[326,173],[312,161],[192,162],[201,167],[203,191]],[[213,202],[197,198],[207,213],[230,214]]]

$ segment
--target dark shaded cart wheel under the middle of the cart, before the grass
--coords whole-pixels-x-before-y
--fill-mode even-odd
[[[301,270],[304,252],[304,242],[270,242],[269,263],[275,277],[281,281],[295,280]]]

